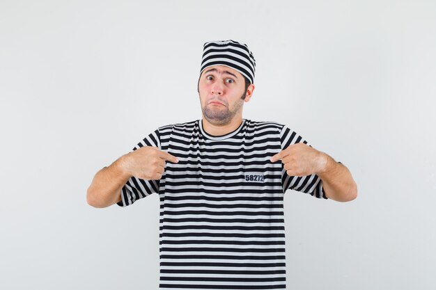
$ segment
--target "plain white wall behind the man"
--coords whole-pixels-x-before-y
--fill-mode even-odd
[[[0,289],[157,289],[159,199],[95,209],[93,176],[201,118],[203,43],[256,58],[244,118],[352,172],[285,195],[288,289],[436,289],[436,2],[0,1]]]

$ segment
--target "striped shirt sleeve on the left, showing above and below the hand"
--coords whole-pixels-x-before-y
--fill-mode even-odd
[[[143,138],[132,150],[137,150],[143,146],[153,146],[162,150],[160,144],[159,129],[148,134],[146,138]],[[146,196],[159,192],[160,180],[145,180],[137,177],[130,177],[126,184],[121,188],[120,195],[121,200],[117,202],[120,207],[127,207],[133,204],[135,201],[145,198]]]

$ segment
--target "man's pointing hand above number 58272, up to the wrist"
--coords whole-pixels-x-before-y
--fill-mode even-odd
[[[271,157],[271,162],[281,160],[289,176],[306,176],[319,174],[325,170],[327,156],[324,153],[306,145],[297,143]]]

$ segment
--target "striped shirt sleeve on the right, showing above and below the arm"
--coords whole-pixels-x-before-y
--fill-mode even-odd
[[[288,127],[286,127],[286,125],[281,129],[280,142],[281,150],[297,143],[309,145],[307,141],[302,138],[302,136],[299,136],[299,134],[297,134],[295,131],[290,130]],[[288,189],[293,189],[302,193],[309,193],[316,198],[324,198],[327,200],[327,196],[325,195],[325,191],[322,186],[322,179],[320,179],[318,175],[313,174],[302,177],[289,176],[288,173],[286,173],[283,163],[281,163],[281,184],[283,187],[283,193],[285,193]]]

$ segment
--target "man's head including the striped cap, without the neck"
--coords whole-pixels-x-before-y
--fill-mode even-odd
[[[203,51],[197,85],[203,116],[215,125],[242,118],[242,105],[254,90],[253,54],[233,40],[206,42]]]

